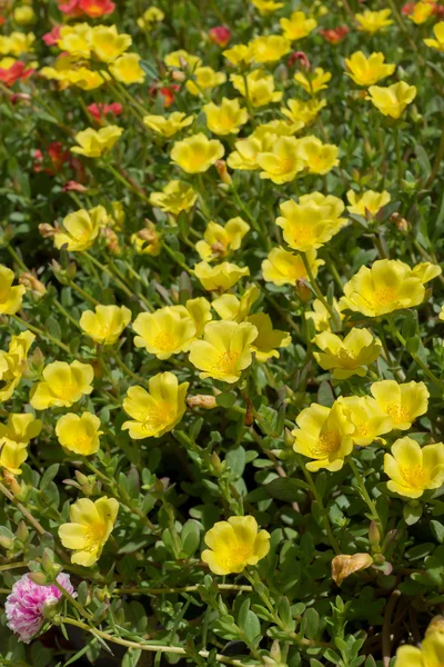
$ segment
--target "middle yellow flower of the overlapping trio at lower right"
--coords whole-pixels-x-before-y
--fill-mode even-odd
[[[341,396],[337,402],[354,426],[352,438],[359,447],[372,445],[375,440],[381,440],[379,436],[392,430],[392,418],[381,410],[371,396]]]

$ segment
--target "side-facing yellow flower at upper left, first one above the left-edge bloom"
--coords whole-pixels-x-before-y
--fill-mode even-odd
[[[56,248],[67,245],[70,252],[81,252],[91,248],[99,231],[108,220],[108,213],[102,206],[95,206],[87,211],[80,209],[69,213],[63,219],[63,227],[54,233]]]

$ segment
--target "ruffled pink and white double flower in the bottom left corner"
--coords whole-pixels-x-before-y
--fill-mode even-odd
[[[61,573],[57,581],[70,595],[77,596],[69,575]],[[43,625],[44,607],[57,603],[61,597],[62,594],[56,586],[39,586],[28,575],[23,575],[12,586],[4,605],[8,627],[19,635],[21,641],[29,644]]]

